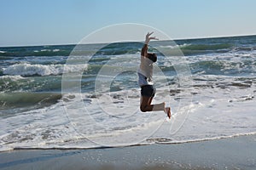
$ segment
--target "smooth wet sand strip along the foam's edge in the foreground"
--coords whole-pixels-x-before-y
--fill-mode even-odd
[[[184,144],[1,152],[1,169],[255,169],[256,135]]]

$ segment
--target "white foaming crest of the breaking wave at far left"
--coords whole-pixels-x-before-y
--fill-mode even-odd
[[[64,71],[65,66],[65,71]],[[9,65],[3,69],[5,75],[20,75],[20,76],[49,76],[59,75],[67,72],[79,72],[87,69],[87,65],[32,65],[32,64],[16,64]]]

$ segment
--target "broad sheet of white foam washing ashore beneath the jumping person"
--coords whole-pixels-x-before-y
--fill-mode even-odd
[[[170,122],[163,111],[139,111],[139,93],[65,94],[55,105],[0,118],[0,150],[183,143],[256,133],[253,88],[183,89],[171,99],[166,87],[158,88],[153,103],[166,101],[172,107]]]

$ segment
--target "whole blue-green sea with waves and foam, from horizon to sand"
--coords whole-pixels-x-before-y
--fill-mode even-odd
[[[174,42],[148,49],[158,55],[153,103],[172,107],[170,121],[139,110],[142,42],[0,48],[0,151],[255,134],[256,36]]]

